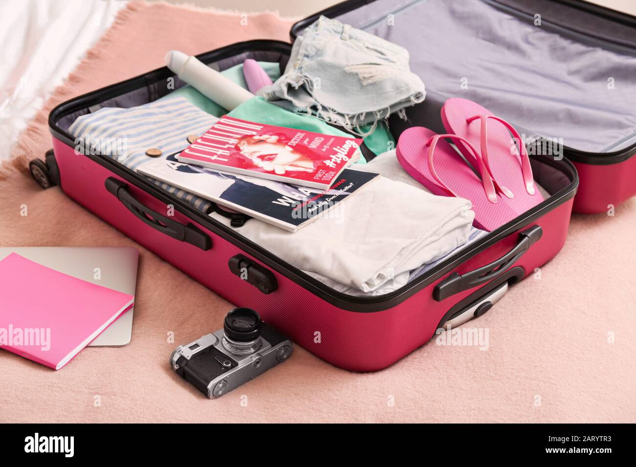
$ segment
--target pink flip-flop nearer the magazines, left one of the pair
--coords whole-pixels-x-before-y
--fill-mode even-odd
[[[466,144],[469,151],[474,152],[475,166],[483,182],[444,138],[452,139],[455,144]],[[472,201],[474,226],[490,232],[517,216],[508,203],[497,195],[480,156],[461,137],[438,135],[428,128],[414,126],[400,135],[396,153],[404,170],[432,194],[457,196]],[[438,172],[443,174],[444,180]]]

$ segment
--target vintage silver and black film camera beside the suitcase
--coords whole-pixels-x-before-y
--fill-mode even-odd
[[[170,366],[209,398],[238,388],[291,356],[292,344],[262,321],[256,311],[235,308],[223,329],[179,346]]]

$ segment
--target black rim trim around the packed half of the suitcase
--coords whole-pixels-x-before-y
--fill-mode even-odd
[[[199,58],[202,62],[209,64],[211,62],[222,60],[223,58],[239,55],[246,51],[279,51],[281,53],[288,54],[289,50],[291,50],[291,45],[281,41],[255,40],[233,44],[226,48],[200,54],[197,55],[197,58]],[[73,135],[57,126],[56,122],[59,121],[60,118],[67,114],[71,114],[73,111],[78,109],[84,109],[91,105],[99,104],[109,98],[116,97],[127,91],[148,86],[162,79],[167,79],[170,76],[174,76],[174,73],[172,73],[167,67],[162,67],[146,74],[136,76],[135,78],[130,78],[126,81],[121,81],[120,83],[106,86],[105,88],[95,90],[73,98],[67,102],[63,102],[62,104],[57,105],[57,107],[55,107],[49,114],[48,125],[50,132],[55,139],[60,140],[69,147],[75,147],[76,144],[74,142],[75,138]],[[417,292],[439,280],[439,278],[445,274],[448,274],[452,271],[452,269],[467,261],[467,259],[480,254],[503,238],[515,233],[522,227],[541,218],[545,213],[550,212],[557,206],[560,206],[574,198],[579,184],[579,177],[576,172],[576,168],[574,168],[574,165],[572,165],[572,163],[570,163],[567,159],[555,161],[551,158],[541,159],[541,156],[531,156],[532,159],[542,160],[542,163],[558,168],[558,170],[570,180],[570,184],[558,191],[558,193],[550,196],[548,200],[543,201],[543,203],[540,203],[528,212],[524,213],[522,216],[516,217],[516,219],[508,222],[508,224],[504,224],[504,226],[501,226],[495,231],[487,234],[481,240],[475,241],[471,245],[467,246],[457,255],[453,255],[453,257],[449,257],[445,261],[440,262],[426,274],[423,274],[416,280],[404,285],[404,287],[385,295],[356,296],[338,292],[337,290],[324,285],[321,281],[308,276],[308,274],[303,273],[297,267],[282,261],[279,257],[273,255],[264,248],[259,247],[259,245],[256,245],[256,243],[240,236],[237,231],[226,227],[224,224],[221,224],[204,213],[196,210],[193,206],[185,203],[175,196],[170,195],[167,191],[161,190],[159,187],[155,186],[155,184],[144,179],[138,173],[135,173],[114,161],[114,159],[107,156],[101,156],[100,154],[86,154],[84,157],[90,158],[92,161],[95,161],[99,165],[107,168],[110,172],[118,175],[135,187],[151,194],[163,203],[174,205],[179,212],[186,215],[189,219],[198,222],[198,224],[209,229],[212,233],[230,241],[230,243],[236,247],[241,248],[247,254],[266,264],[267,267],[270,267],[283,276],[293,280],[324,301],[337,306],[338,308],[359,313],[383,311],[401,304],[401,302],[405,301],[412,295],[417,294]],[[63,184],[60,183],[60,188],[63,189],[62,185]],[[505,271],[502,271],[502,274],[504,272]],[[494,280],[495,278],[492,279]]]

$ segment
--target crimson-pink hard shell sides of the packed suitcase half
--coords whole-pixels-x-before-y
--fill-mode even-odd
[[[357,372],[384,369],[434,337],[439,321],[455,304],[480,287],[486,290],[488,286],[474,287],[438,302],[433,299],[432,291],[436,283],[448,276],[445,274],[392,308],[358,312],[338,308],[279,271],[272,271],[278,281],[278,288],[270,294],[263,294],[233,274],[228,267],[230,257],[243,254],[254,259],[251,255],[190,219],[179,211],[179,206],[175,206],[172,219],[183,224],[195,224],[212,238],[212,248],[204,251],[157,231],[137,219],[116,196],[107,191],[104,182],[108,177],[115,177],[127,183],[128,191],[156,212],[167,212],[167,205],[163,201],[118,177],[89,157],[77,155],[74,147],[55,137],[53,147],[60,185],[67,196],[235,306],[256,309],[263,320],[300,346],[342,369]],[[543,229],[543,236],[518,261],[509,264],[507,270],[522,266],[527,276],[558,253],[565,243],[572,202],[573,198],[569,198],[520,229],[539,225]],[[517,232],[474,255],[454,271],[466,273],[499,259],[515,247]],[[254,261],[272,270],[263,262]],[[478,322],[474,323],[475,327],[478,325]],[[321,334],[319,343],[314,342],[315,332]]]

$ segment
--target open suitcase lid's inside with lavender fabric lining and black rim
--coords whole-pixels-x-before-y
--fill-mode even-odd
[[[440,132],[443,102],[464,97],[572,161],[636,154],[636,17],[579,0],[349,0],[294,24],[292,40],[321,15],[409,51],[428,107],[407,111],[410,126]]]

